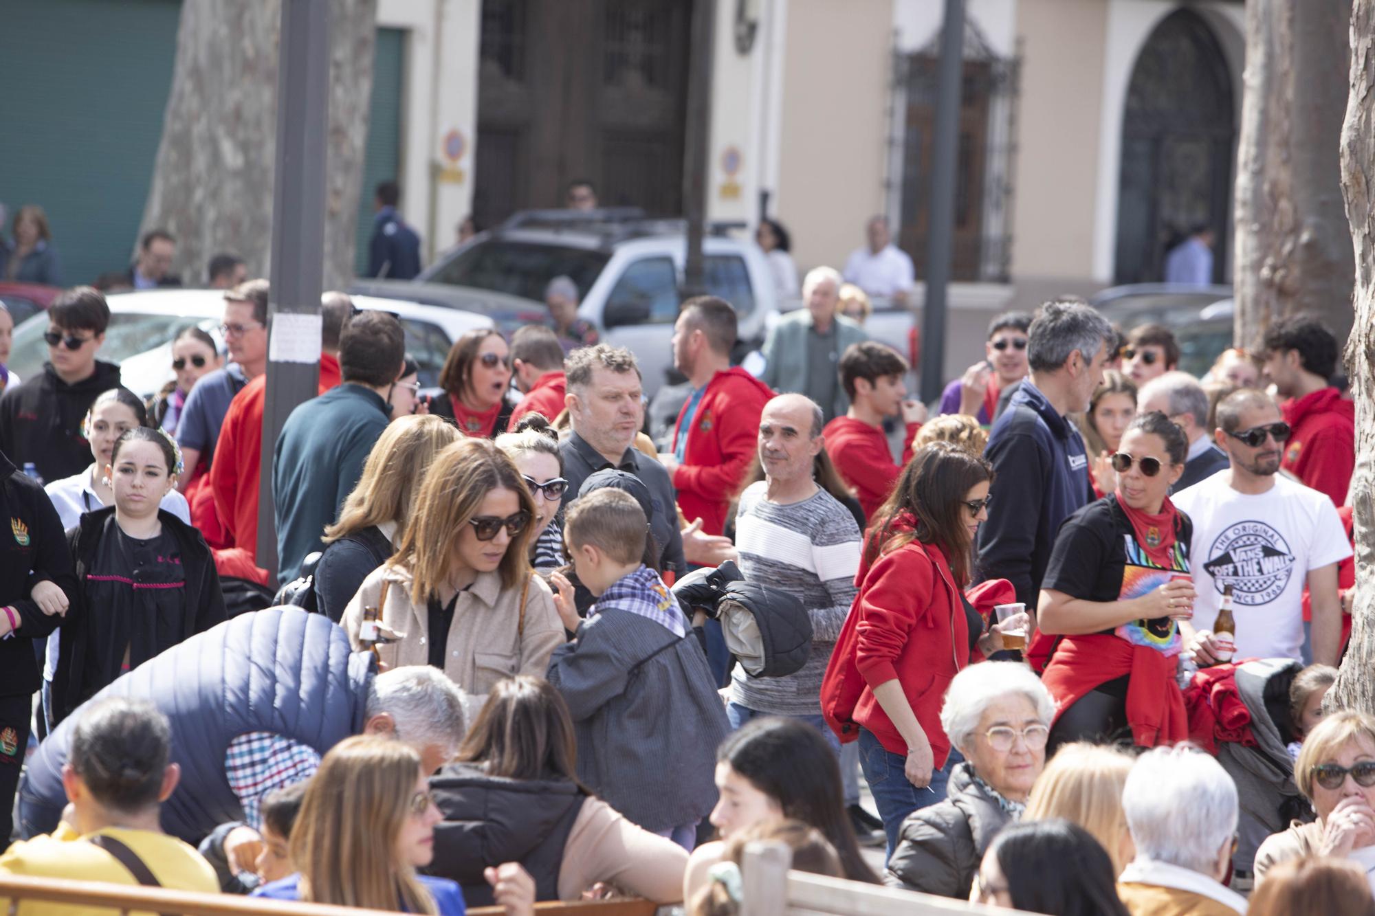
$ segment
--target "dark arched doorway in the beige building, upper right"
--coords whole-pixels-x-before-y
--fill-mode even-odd
[[[1226,58],[1202,17],[1188,10],[1166,17],[1141,48],[1122,116],[1118,283],[1160,281],[1166,253],[1195,226],[1213,228],[1213,282],[1225,282],[1232,99]]]

